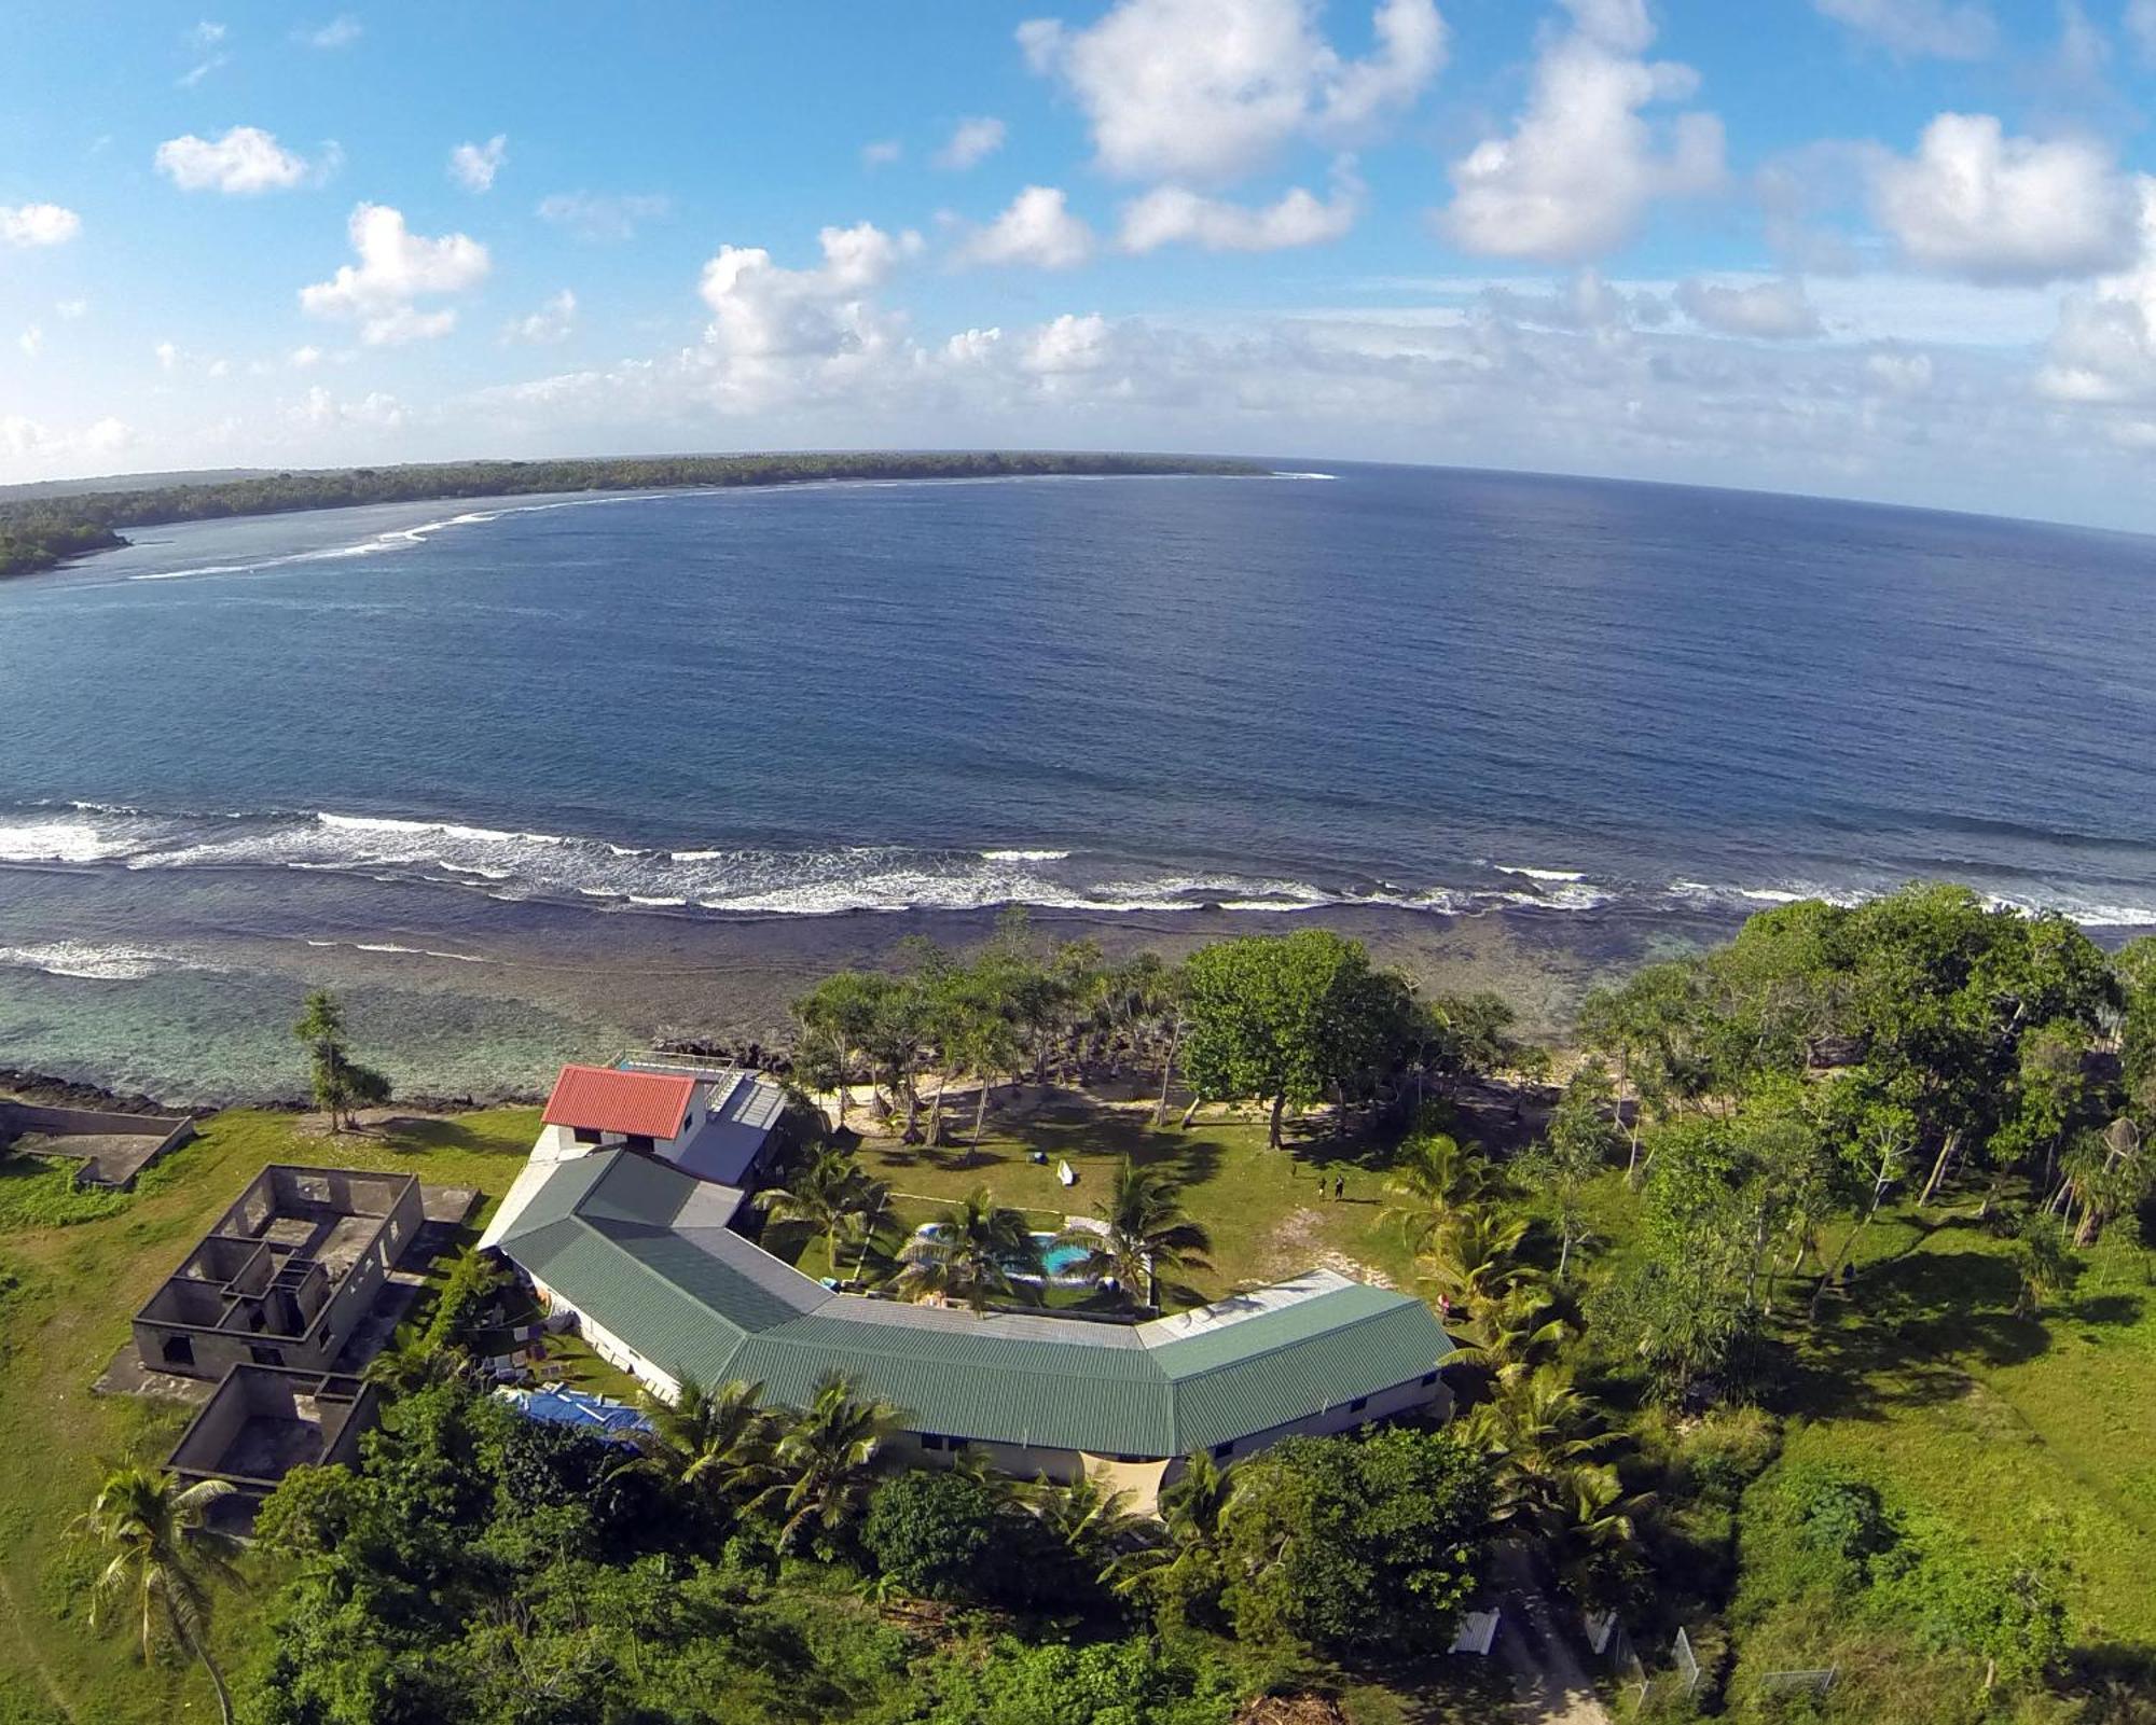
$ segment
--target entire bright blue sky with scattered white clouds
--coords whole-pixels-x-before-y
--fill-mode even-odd
[[[13,0],[0,78],[0,483],[1153,446],[2156,528],[2156,0]]]

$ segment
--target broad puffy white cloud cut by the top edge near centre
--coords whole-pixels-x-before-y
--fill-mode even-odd
[[[1119,0],[1089,28],[1033,19],[1018,43],[1059,78],[1123,179],[1220,183],[1291,138],[1352,140],[1445,63],[1432,0],[1382,0],[1376,52],[1343,58],[1309,0]]]

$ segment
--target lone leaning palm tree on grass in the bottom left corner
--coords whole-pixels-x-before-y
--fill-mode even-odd
[[[75,1537],[110,1552],[97,1576],[91,1626],[108,1604],[123,1606],[138,1624],[144,1662],[157,1634],[168,1634],[203,1662],[224,1725],[233,1725],[233,1697],[209,1656],[209,1606],[216,1583],[239,1585],[233,1568],[239,1542],[209,1527],[209,1507],[231,1490],[222,1479],[181,1486],[170,1473],[125,1466],[106,1475],[75,1520]]]

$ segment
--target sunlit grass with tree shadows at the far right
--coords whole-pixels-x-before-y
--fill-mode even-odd
[[[2156,1253],[2122,1233],[2040,1317],[1975,1205],[1871,1229],[1783,1466],[1833,1460],[1994,1557],[2068,1563],[2076,1639],[2156,1643]]]

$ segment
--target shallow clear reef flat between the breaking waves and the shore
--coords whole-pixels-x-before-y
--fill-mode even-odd
[[[649,916],[328,873],[289,875],[276,893],[207,875],[0,869],[0,949],[65,940],[69,955],[129,960],[101,975],[0,964],[9,1065],[179,1108],[291,1102],[304,1093],[291,1022],[310,988],[332,988],[356,1052],[405,1102],[487,1106],[543,1091],[563,1061],[660,1039],[780,1050],[793,1037],[789,1003],[821,977],[890,966],[908,938],[977,947],[1000,914]],[[1332,927],[1425,992],[1503,994],[1522,1033],[1542,1039],[1565,1031],[1598,981],[1723,940],[1738,921],[1524,908],[1033,912],[1044,940],[1089,938],[1108,960]]]

